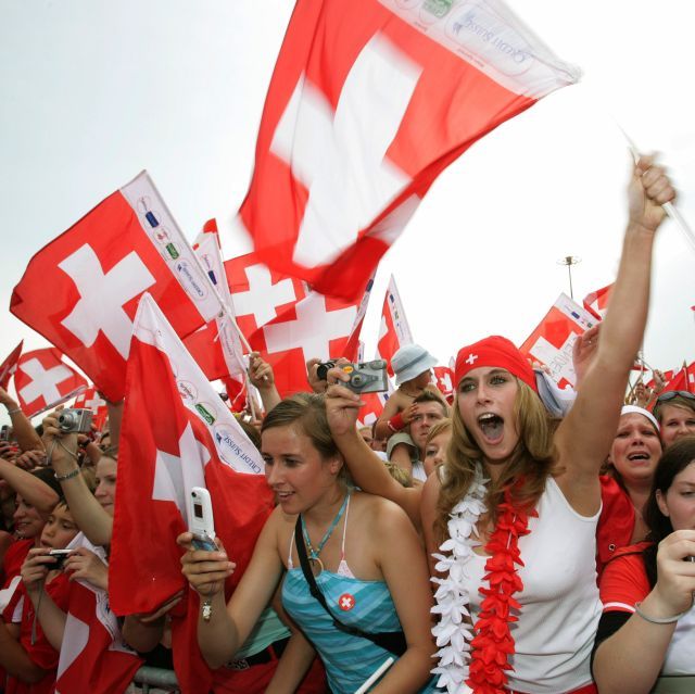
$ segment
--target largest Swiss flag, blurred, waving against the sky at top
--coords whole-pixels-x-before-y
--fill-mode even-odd
[[[355,299],[448,164],[578,77],[500,0],[299,0],[241,223],[269,267]]]

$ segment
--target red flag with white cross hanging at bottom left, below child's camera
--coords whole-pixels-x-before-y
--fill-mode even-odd
[[[68,548],[84,546],[105,564],[102,547],[79,533]],[[142,658],[123,641],[109,595],[88,581],[71,583],[67,618],[55,680],[55,694],[123,694]]]

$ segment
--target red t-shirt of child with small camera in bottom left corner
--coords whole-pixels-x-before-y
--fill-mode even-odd
[[[45,590],[51,600],[64,611],[67,611],[70,597],[70,581],[65,573],[59,573]],[[36,622],[36,641],[31,644],[31,626],[34,624],[34,604],[26,594],[24,583],[17,589],[23,596],[22,617],[20,622],[20,643],[27,652],[31,663],[43,670],[46,676],[35,684],[21,682],[16,678],[8,677],[5,694],[51,694],[55,687],[55,672],[58,670],[59,652],[51,646],[41,624]]]

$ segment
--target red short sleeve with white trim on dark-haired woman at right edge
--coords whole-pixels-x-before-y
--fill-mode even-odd
[[[623,547],[604,568],[598,586],[604,611],[634,613],[634,604],[652,591],[642,552],[648,542]]]

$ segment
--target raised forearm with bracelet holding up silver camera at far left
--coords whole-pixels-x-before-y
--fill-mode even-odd
[[[79,474],[77,434],[61,431],[54,414],[43,419],[43,442],[50,454],[55,479],[61,483],[73,518],[85,537],[92,544],[111,544],[113,518],[101,507]],[[113,433],[111,440],[113,442]]]

